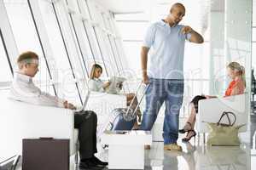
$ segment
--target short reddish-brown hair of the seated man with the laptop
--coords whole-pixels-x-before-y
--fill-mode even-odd
[[[22,64],[32,64],[36,63],[38,64],[38,54],[32,52],[32,51],[26,51],[22,54],[17,59],[17,63],[19,65],[19,68],[21,68]]]

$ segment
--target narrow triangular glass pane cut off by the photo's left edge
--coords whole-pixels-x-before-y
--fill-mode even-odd
[[[11,82],[12,73],[9,68],[8,59],[3,48],[2,38],[0,37],[0,80],[1,82]]]

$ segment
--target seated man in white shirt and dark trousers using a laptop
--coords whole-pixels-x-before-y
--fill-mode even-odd
[[[18,60],[19,71],[10,89],[9,98],[20,100],[33,105],[48,105],[75,110],[76,107],[67,100],[42,92],[32,82],[38,72],[38,54],[25,52],[20,54]],[[47,126],[47,125],[45,125]],[[57,126],[57,122],[56,122]],[[96,153],[96,126],[97,116],[93,111],[80,111],[74,113],[74,127],[79,129],[79,167],[83,169],[102,169],[108,162],[102,162]]]

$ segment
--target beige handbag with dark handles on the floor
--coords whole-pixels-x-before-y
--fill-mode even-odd
[[[230,116],[234,117],[234,122],[230,122]],[[229,124],[221,123],[226,116]],[[220,146],[239,146],[240,140],[238,138],[238,130],[244,125],[234,126],[236,123],[236,115],[233,112],[224,111],[217,123],[207,122],[210,133],[207,136],[208,145]]]

